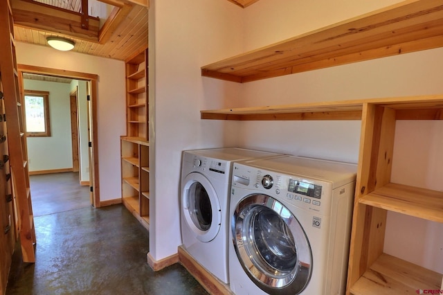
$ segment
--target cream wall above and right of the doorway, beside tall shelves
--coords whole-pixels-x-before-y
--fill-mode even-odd
[[[126,133],[125,63],[21,42],[17,42],[17,63],[98,75],[100,201],[120,199],[120,135]]]

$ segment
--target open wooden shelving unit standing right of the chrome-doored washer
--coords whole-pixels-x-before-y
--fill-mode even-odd
[[[442,102],[443,96],[426,107],[420,97],[363,103],[348,294],[413,294],[443,287],[443,274],[383,253],[388,211],[443,222],[443,192],[390,181],[397,120],[443,120]]]

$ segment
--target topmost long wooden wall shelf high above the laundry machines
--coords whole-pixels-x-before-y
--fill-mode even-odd
[[[441,0],[409,0],[201,68],[251,82],[443,46]]]

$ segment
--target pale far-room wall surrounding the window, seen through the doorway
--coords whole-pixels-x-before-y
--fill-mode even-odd
[[[29,170],[72,168],[69,84],[26,79],[24,89],[49,92],[51,136],[26,138]]]

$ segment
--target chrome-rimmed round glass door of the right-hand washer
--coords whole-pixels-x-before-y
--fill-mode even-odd
[[[235,208],[235,252],[255,285],[271,294],[299,294],[309,283],[312,253],[297,218],[278,200],[253,194]]]

